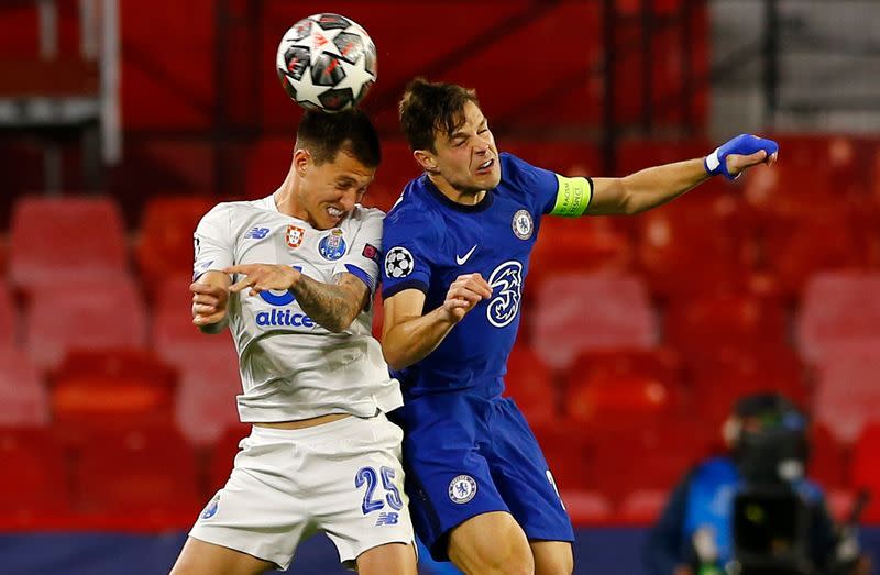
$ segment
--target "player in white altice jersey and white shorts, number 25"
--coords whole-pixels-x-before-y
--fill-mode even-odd
[[[199,223],[193,322],[230,328],[253,428],[172,575],[286,570],[317,531],[362,574],[415,575],[403,433],[385,418],[403,399],[371,336],[384,214],[358,203],[378,163],[362,112],[307,112],[282,187]]]

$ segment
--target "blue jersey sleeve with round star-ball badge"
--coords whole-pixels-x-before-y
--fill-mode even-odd
[[[385,219],[382,297],[405,289],[428,292],[432,256],[440,246],[430,217],[411,209],[393,210]]]

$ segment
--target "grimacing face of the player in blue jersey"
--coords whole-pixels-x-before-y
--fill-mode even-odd
[[[502,179],[498,148],[488,122],[473,102],[464,106],[464,123],[448,136],[435,136],[435,174],[461,193],[477,193],[495,188]]]

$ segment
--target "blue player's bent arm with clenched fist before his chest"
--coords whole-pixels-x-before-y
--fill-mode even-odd
[[[422,316],[425,294],[405,289],[385,300],[382,354],[393,369],[404,369],[435,351],[443,338],[492,288],[480,274],[464,274],[449,287],[442,306]]]

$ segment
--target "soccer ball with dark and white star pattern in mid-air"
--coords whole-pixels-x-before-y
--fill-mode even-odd
[[[339,112],[358,106],[376,81],[376,46],[339,14],[314,14],[288,30],[276,56],[278,79],[295,102]]]

